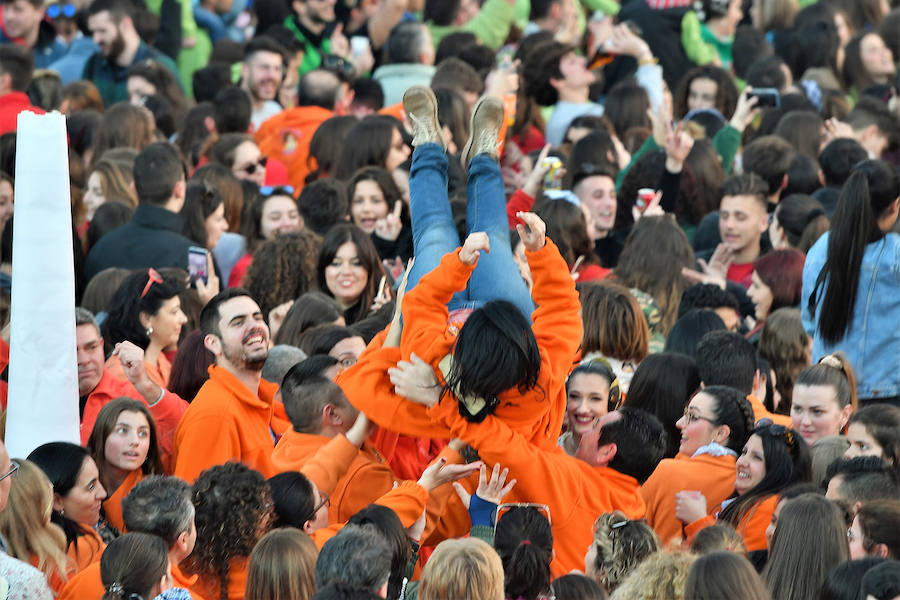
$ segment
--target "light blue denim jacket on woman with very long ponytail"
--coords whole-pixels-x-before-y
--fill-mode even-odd
[[[800,311],[803,328],[813,338],[812,357],[841,350],[856,374],[860,398],[900,395],[900,235],[889,233],[866,246],[860,267],[856,304],[850,329],[836,344],[818,334],[818,318],[807,305],[828,255],[826,233],[810,248],[803,267]],[[826,285],[827,285],[826,280]],[[823,297],[820,290],[819,299]]]

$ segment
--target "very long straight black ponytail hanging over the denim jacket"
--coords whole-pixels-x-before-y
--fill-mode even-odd
[[[807,306],[810,316],[815,316],[821,300],[819,335],[830,344],[850,330],[866,246],[884,237],[878,218],[898,195],[897,173],[880,160],[858,164],[841,190],[831,221],[828,255]],[[824,290],[821,295],[820,290]]]

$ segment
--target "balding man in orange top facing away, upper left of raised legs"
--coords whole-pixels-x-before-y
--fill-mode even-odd
[[[308,71],[300,77],[297,106],[267,119],[253,134],[264,156],[284,163],[288,183],[295,190],[306,185],[309,142],[319,125],[335,116],[340,91],[341,80],[334,73],[324,69]]]

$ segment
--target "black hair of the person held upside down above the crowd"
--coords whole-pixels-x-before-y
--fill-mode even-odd
[[[537,385],[540,371],[541,351],[528,319],[512,303],[492,300],[460,329],[444,391],[483,398],[493,412],[502,392],[525,393]]]

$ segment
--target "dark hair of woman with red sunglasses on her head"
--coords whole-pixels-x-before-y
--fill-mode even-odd
[[[127,340],[143,349],[150,344],[140,314],[155,315],[164,302],[178,296],[179,288],[171,279],[163,278],[162,283],[152,282],[142,297],[141,293],[149,280],[148,270],[141,269],[126,277],[113,294],[109,316],[101,327],[105,343],[114,345]]]

